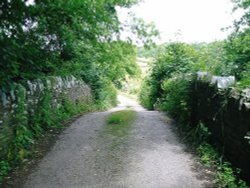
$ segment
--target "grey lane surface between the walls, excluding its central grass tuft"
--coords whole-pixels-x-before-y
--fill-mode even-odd
[[[121,104],[111,111],[84,115],[67,128],[23,187],[208,187],[164,115],[125,97],[119,100]],[[105,117],[128,106],[137,111],[128,136],[108,136]]]

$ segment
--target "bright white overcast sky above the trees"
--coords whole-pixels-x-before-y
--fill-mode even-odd
[[[119,10],[121,21],[128,11],[146,22],[154,22],[161,42],[211,42],[226,38],[221,29],[231,26],[240,13],[232,14],[230,0],[144,0],[129,10]],[[176,35],[176,33],[180,33]]]

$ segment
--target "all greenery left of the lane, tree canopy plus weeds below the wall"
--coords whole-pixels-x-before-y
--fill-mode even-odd
[[[0,130],[0,182],[16,166],[32,156],[33,144],[51,129],[76,114],[107,109],[116,104],[116,88],[126,77],[135,77],[137,49],[120,33],[150,44],[158,31],[152,24],[131,18],[129,26],[118,19],[117,7],[129,8],[137,0],[28,1],[3,0],[0,4],[0,95],[48,76],[74,76],[91,87],[93,104],[75,105],[68,99],[54,110],[46,92],[36,116],[24,115],[25,96],[18,94],[15,122]],[[136,27],[135,27],[136,25]]]

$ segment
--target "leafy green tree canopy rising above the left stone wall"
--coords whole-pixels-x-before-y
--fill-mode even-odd
[[[48,75],[81,77],[103,100],[102,91],[136,75],[136,48],[119,40],[123,25],[116,8],[137,0],[4,0],[0,4],[0,85]],[[153,25],[133,19],[131,31],[144,42]],[[99,96],[102,95],[102,96]]]

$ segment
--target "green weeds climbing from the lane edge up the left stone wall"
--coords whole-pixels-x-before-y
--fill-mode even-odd
[[[52,93],[45,90],[38,101],[39,108],[31,110],[21,85],[17,88],[17,96],[17,107],[0,133],[0,185],[10,171],[34,155],[33,146],[48,131],[63,129],[64,122],[76,115],[106,108],[98,102],[74,104],[65,96],[60,106],[53,107]]]

